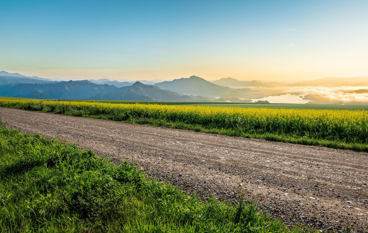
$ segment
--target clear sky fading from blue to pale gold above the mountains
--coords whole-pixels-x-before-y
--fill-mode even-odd
[[[61,78],[368,76],[368,1],[4,1],[0,70]]]

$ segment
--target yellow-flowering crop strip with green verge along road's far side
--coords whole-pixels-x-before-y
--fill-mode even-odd
[[[368,111],[0,99],[0,107],[368,152]]]

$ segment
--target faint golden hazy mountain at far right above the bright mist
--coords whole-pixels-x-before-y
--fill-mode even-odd
[[[368,77],[329,77],[311,81],[300,81],[289,86],[299,87],[339,87],[339,86],[368,86]]]

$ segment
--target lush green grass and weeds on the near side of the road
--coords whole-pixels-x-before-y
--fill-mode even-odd
[[[0,126],[0,232],[302,232],[183,194],[125,161]]]

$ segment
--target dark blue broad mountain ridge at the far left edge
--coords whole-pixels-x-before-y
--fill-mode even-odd
[[[98,85],[88,80],[61,81],[46,84],[9,84],[1,86],[0,95],[37,99],[85,99],[99,93],[118,90],[116,86]]]

